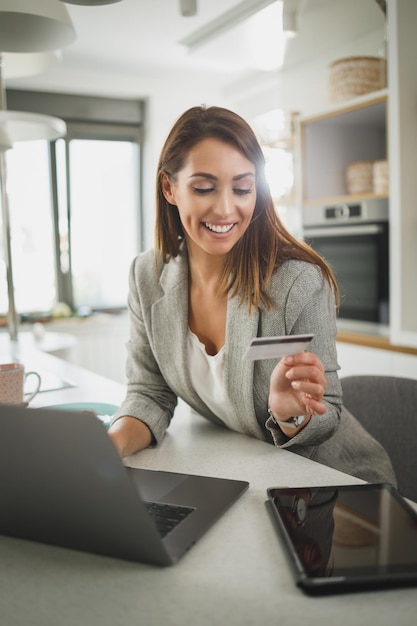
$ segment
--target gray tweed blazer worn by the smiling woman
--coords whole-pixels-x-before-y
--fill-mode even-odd
[[[382,447],[342,407],[337,375],[336,306],[334,295],[317,267],[287,261],[269,288],[272,310],[260,306],[248,314],[247,302],[230,298],[227,306],[225,386],[241,431],[277,447],[309,457],[369,481],[395,476]],[[139,255],[129,277],[130,340],[128,387],[115,415],[145,422],[158,443],[182,398],[205,418],[224,426],[194,391],[188,372],[188,262],[186,252],[169,263],[155,260],[149,250]],[[276,362],[249,362],[244,353],[253,337],[314,333],[309,349],[321,359],[328,381],[327,411],[288,439],[268,419],[269,379]]]

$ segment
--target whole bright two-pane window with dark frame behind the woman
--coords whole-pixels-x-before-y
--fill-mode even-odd
[[[140,251],[140,124],[66,121],[65,138],[21,142],[6,153],[15,301],[23,316],[48,313],[57,302],[73,311],[124,308],[129,266]],[[5,315],[1,244],[0,236]]]

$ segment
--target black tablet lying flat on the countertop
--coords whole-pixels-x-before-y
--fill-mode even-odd
[[[304,592],[417,584],[417,513],[390,485],[271,487],[267,496]]]

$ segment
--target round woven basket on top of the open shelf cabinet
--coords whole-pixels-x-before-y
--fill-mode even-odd
[[[329,66],[331,102],[349,100],[386,86],[387,64],[382,57],[349,57]]]

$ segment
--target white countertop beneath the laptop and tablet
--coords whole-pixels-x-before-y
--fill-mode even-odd
[[[50,356],[42,367],[76,387],[46,392],[36,406],[118,403],[123,386]],[[35,404],[35,402],[34,402]],[[76,459],[74,459],[76,462]],[[265,509],[273,485],[361,482],[291,452],[218,428],[179,405],[162,445],[127,464],[248,480],[249,490],[169,568],[0,537],[0,616],[5,626],[328,624],[410,626],[415,589],[309,598],[295,586]]]

